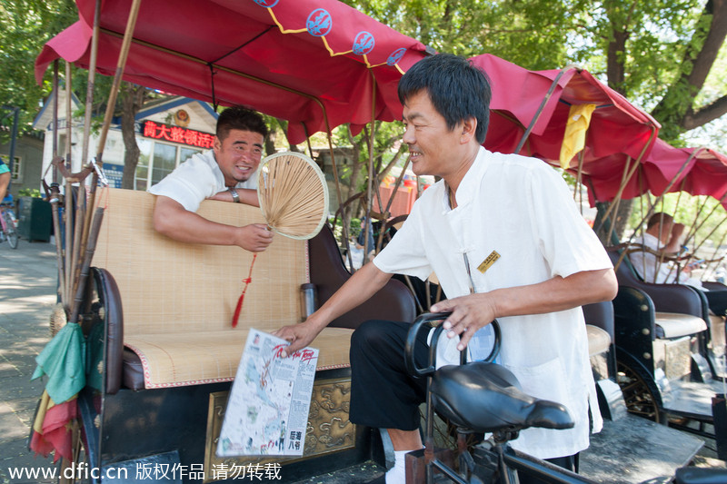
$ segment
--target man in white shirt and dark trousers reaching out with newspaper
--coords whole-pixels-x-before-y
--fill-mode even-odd
[[[580,306],[611,300],[617,283],[558,173],[542,161],[481,146],[490,95],[483,73],[454,55],[425,58],[403,75],[403,142],[412,169],[442,180],[414,203],[373,262],[307,321],[277,334],[295,351],[393,273],[424,279],[434,272],[451,299],[431,310],[452,311],[444,327],[457,349],[497,318],[501,364],[525,392],[563,403],[576,422],[572,430],[523,430],[513,447],[542,459],[570,458],[588,446],[589,403],[596,426],[600,422]],[[389,484],[403,482],[403,455],[422,448],[423,379],[403,368],[410,323],[366,321],[351,342],[350,418],[388,430],[395,465],[380,481]]]

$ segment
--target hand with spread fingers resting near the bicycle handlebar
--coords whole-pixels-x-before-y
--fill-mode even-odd
[[[459,298],[439,301],[431,308],[432,312],[448,312],[452,314],[444,320],[443,325],[447,337],[460,336],[457,350],[463,351],[473,334],[487,326],[495,319],[495,305],[488,293],[470,294]]]

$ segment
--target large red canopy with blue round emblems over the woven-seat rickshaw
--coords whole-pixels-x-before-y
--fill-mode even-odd
[[[38,83],[58,57],[89,67],[95,0],[76,4],[80,20],[35,60]],[[101,7],[101,74],[115,74],[130,5]],[[289,140],[301,143],[342,123],[360,129],[372,112],[400,119],[399,78],[425,54],[420,42],[336,0],[154,0],[141,3],[124,80],[253,106],[290,121]]]

